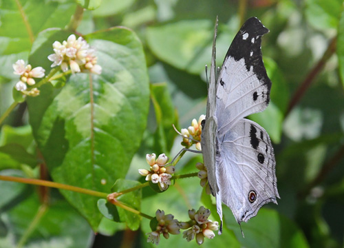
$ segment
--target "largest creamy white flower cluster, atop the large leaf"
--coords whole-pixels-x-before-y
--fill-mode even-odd
[[[76,39],[75,35],[71,34],[67,41],[62,43],[55,41],[52,47],[55,53],[47,56],[50,61],[54,62],[52,67],[60,65],[63,72],[70,68],[72,73],[87,69],[94,74],[101,74],[102,68],[97,65],[94,49],[82,37]]]

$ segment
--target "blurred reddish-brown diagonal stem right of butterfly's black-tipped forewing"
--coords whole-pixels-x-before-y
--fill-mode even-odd
[[[318,75],[319,72],[321,72],[327,60],[330,59],[332,54],[334,54],[334,52],[336,51],[336,41],[337,39],[336,37],[334,37],[328,45],[327,50],[323,54],[323,57],[318,61],[318,63],[316,63],[312,70],[310,70],[305,80],[301,83],[299,89],[297,89],[297,91],[294,93],[294,96],[292,96],[292,99],[290,100],[288,109],[286,111],[286,116],[288,116],[288,114],[295,107],[295,105],[299,103],[301,97],[308,90],[308,87],[310,87],[316,75]]]

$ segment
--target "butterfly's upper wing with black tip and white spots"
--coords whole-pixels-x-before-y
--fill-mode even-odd
[[[251,17],[228,49],[217,81],[219,132],[268,106],[271,81],[261,56],[261,36],[267,32],[259,19]]]

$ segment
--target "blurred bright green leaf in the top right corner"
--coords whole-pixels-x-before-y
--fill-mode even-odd
[[[311,25],[322,30],[337,28],[342,0],[307,0],[305,3],[305,16]]]

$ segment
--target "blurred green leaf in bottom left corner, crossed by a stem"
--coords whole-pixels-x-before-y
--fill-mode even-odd
[[[39,211],[42,216],[37,219],[34,229],[30,230]],[[10,211],[1,211],[0,218],[5,220],[6,226],[6,232],[0,234],[1,247],[4,243],[10,244],[9,247],[17,247],[20,238],[28,231],[33,232],[25,240],[25,247],[74,248],[89,247],[92,244],[93,234],[89,225],[63,200],[56,200],[44,209],[38,195],[32,194]]]

